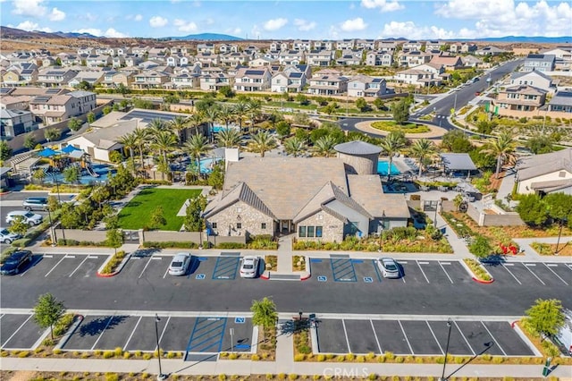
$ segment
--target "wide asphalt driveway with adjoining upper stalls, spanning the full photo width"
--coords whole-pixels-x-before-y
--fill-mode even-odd
[[[352,262],[351,274],[345,273],[348,267],[324,259],[313,264],[310,280],[285,283],[241,279],[236,264],[218,257],[201,258],[192,274],[172,277],[166,274],[171,257],[156,254],[131,259],[120,275],[98,278],[96,270],[104,260],[95,254],[38,255],[21,276],[2,278],[2,308],[31,308],[44,292],[52,292],[70,309],[248,311],[253,300],[265,296],[280,311],[317,313],[520,316],[538,298],[556,298],[572,308],[572,268],[563,264],[550,269],[520,263],[494,267],[498,279],[493,284],[476,284],[454,258],[405,263],[406,276],[397,281],[378,278],[371,259]],[[568,279],[568,285],[551,270]],[[327,280],[320,282],[318,275]],[[352,277],[355,281],[345,281]]]

